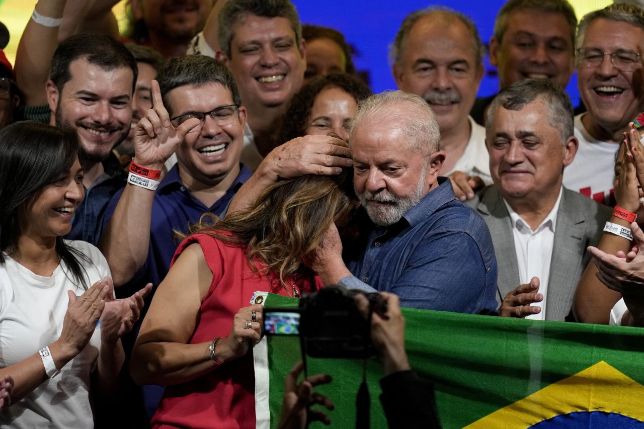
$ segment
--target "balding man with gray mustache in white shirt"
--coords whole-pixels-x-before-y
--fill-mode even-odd
[[[491,183],[485,129],[468,115],[484,73],[483,53],[471,19],[448,8],[407,15],[392,44],[398,88],[422,97],[436,114],[445,152],[440,173],[450,176],[460,200]]]

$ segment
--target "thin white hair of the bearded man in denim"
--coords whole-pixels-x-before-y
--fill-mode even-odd
[[[395,110],[400,106],[404,109]],[[436,116],[427,102],[415,94],[403,91],[384,91],[358,104],[349,130],[349,142],[363,120],[371,117],[398,119],[400,129],[407,135],[410,150],[427,157],[440,150],[440,131]]]

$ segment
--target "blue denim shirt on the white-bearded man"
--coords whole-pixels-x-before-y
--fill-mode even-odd
[[[371,225],[345,262],[349,289],[392,292],[401,307],[494,314],[497,260],[483,218],[439,186],[388,227]]]

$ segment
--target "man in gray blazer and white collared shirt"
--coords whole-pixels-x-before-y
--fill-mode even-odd
[[[573,106],[558,86],[528,79],[488,110],[494,184],[469,204],[488,224],[498,261],[502,316],[563,321],[611,209],[562,186],[578,141]],[[519,285],[517,287],[517,285]]]

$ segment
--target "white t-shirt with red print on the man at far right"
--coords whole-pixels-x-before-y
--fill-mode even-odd
[[[574,137],[579,140],[579,149],[572,164],[564,168],[564,186],[600,204],[611,204],[615,154],[620,145],[592,137],[582,124],[586,114],[574,117]]]

